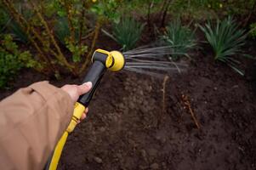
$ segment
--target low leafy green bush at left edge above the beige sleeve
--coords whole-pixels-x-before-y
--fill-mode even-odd
[[[1,35],[0,45],[0,88],[5,88],[22,67],[41,69],[41,65],[31,58],[29,51],[21,52],[9,34]]]

